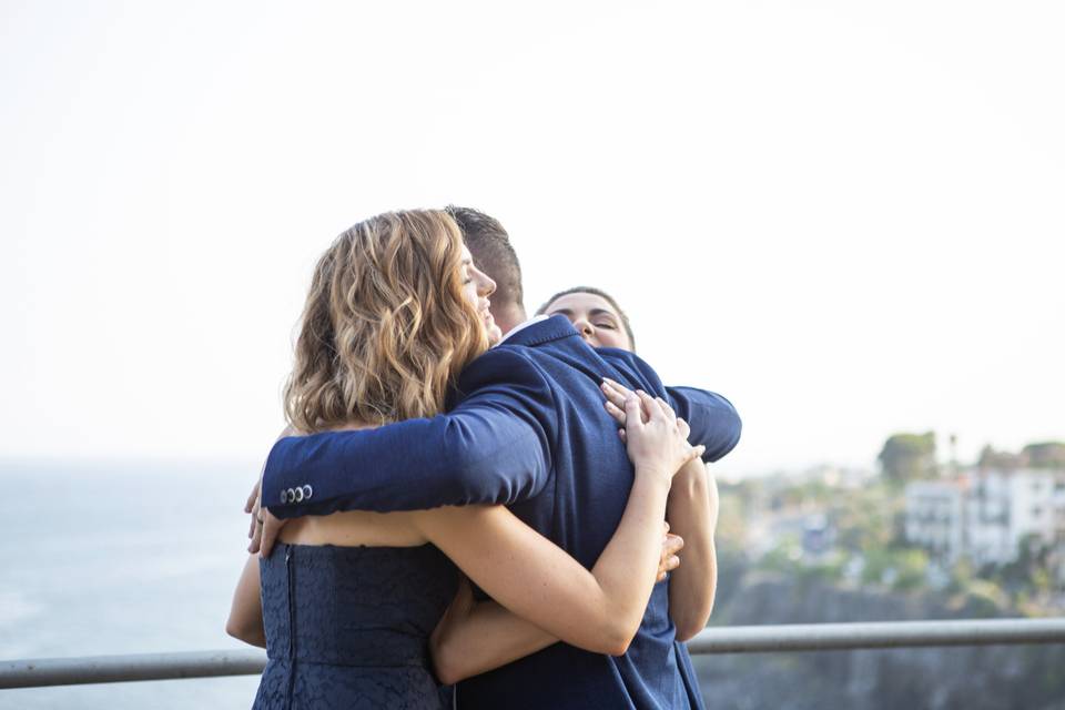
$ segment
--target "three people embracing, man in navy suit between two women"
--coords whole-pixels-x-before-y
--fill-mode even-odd
[[[663,386],[607,294],[523,301],[469,209],[372,217],[320,260],[227,626],[267,649],[255,708],[703,707],[681,641],[736,409]]]

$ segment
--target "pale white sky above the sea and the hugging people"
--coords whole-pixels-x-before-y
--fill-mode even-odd
[[[0,457],[258,459],[378,212],[615,293],[723,470],[1065,438],[1065,6],[3,2]],[[945,436],[942,439],[945,447]]]

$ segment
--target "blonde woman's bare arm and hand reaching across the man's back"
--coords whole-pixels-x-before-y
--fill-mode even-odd
[[[501,605],[547,633],[588,650],[621,655],[655,585],[669,483],[698,455],[687,426],[642,395],[625,404],[636,478],[617,531],[591,572],[506,508],[467,506],[419,515],[426,537]],[[683,440],[682,440],[683,439]],[[445,669],[445,676],[446,669]]]

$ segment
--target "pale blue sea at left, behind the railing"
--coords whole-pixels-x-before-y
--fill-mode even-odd
[[[224,627],[258,466],[0,462],[0,660],[250,648]],[[0,690],[0,710],[246,709],[257,684]]]

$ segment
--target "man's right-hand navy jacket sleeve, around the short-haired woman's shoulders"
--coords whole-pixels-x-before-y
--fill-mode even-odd
[[[642,386],[650,386],[649,392],[663,397],[677,412],[677,416],[688,422],[691,426],[688,440],[707,447],[702,460],[716,462],[736,448],[742,424],[731,402],[706,389],[666,387],[658,373],[632,353],[611,349],[609,355],[616,364],[618,361],[623,362],[625,366],[636,373],[639,381],[646,383]]]

